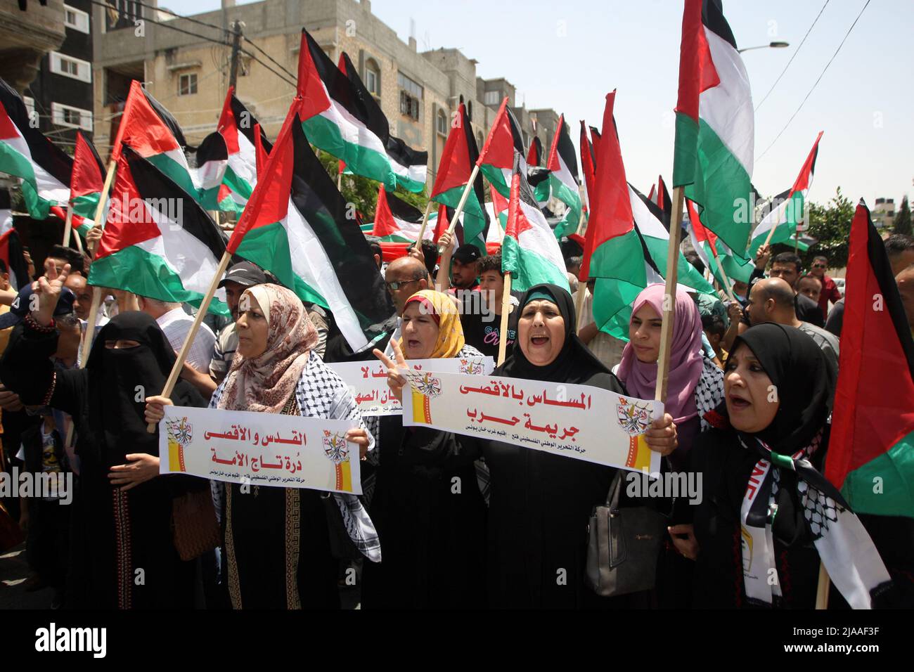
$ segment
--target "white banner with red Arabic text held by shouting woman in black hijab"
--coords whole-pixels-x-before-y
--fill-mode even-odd
[[[660,471],[642,436],[660,401],[587,385],[405,371],[403,424],[479,436],[596,464]]]

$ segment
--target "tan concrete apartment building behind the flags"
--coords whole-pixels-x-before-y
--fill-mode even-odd
[[[155,2],[148,0],[143,5]],[[147,91],[175,115],[187,142],[197,144],[215,130],[228,89],[230,48],[170,27],[217,40],[224,39],[224,34],[131,0],[108,3],[110,9],[92,7],[94,25],[101,28],[93,36],[92,63],[100,154],[109,151],[117,112],[122,110],[132,79],[144,81]],[[150,18],[153,20],[147,20]],[[224,0],[220,10],[192,18],[226,29],[239,20],[244,36],[292,73],[297,69],[302,27],[334,62],[345,51],[368,90],[380,101],[391,133],[429,152],[430,180],[434,179],[452,113],[461,101],[472,113],[473,133],[480,145],[505,95],[521,124],[525,150],[536,133],[545,155],[558,126],[558,113],[552,110],[518,108],[515,87],[507,80],[478,78],[476,61],[460,50],[420,52],[415,38],[403,42],[371,13],[369,0],[264,0],[239,6]],[[282,72],[244,40],[241,48]],[[294,80],[288,74],[285,77]],[[294,89],[290,82],[242,54],[237,95],[273,138]]]

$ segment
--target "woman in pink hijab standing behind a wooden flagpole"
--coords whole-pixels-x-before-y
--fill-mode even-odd
[[[616,372],[628,393],[641,399],[654,399],[660,330],[664,324],[664,291],[663,284],[652,284],[635,299],[629,322],[629,342],[622,351],[622,361]],[[673,416],[679,444],[666,458],[669,468],[664,464],[662,471],[678,472],[685,470],[688,453],[698,434],[710,427],[705,413],[716,408],[724,398],[724,376],[702,350],[698,306],[680,290],[676,290],[674,320],[665,411]],[[700,484],[698,487],[700,489]],[[687,502],[685,493],[664,495],[678,495],[677,508]],[[655,504],[669,511],[672,502],[666,500]],[[687,526],[674,526],[669,532],[679,537],[691,536]],[[689,608],[693,571],[694,562],[675,549],[672,539],[666,539],[657,562],[654,600],[658,606]]]

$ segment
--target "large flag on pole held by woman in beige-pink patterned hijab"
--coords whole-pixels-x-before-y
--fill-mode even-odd
[[[292,103],[228,251],[330,310],[358,352],[384,333],[394,307],[358,222],[308,144],[302,104]]]

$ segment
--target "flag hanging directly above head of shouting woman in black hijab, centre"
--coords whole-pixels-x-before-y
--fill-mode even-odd
[[[516,153],[502,242],[502,271],[511,273],[511,288],[517,292],[526,292],[539,283],[557,284],[569,290],[558,240],[526,183],[526,162],[522,162],[524,157]]]

